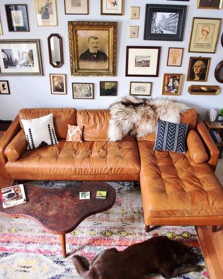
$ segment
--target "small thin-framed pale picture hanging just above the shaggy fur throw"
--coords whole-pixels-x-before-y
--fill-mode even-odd
[[[129,94],[135,96],[151,96],[152,82],[130,81]]]

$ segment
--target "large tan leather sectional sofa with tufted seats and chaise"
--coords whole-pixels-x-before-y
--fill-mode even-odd
[[[49,113],[54,115],[59,143],[26,150],[20,119]],[[140,181],[146,230],[150,225],[223,224],[223,188],[214,174],[219,151],[195,110],[181,115],[181,123],[189,123],[190,130],[185,154],[153,151],[155,134],[109,142],[109,119],[109,110],[20,110],[0,141],[2,176]],[[84,126],[82,143],[65,141],[67,124]]]

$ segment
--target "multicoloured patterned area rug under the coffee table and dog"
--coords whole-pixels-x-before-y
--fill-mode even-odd
[[[17,181],[18,182],[18,181]],[[19,181],[21,182],[21,181]],[[75,187],[75,181],[22,181],[45,188]],[[108,182],[116,191],[114,206],[93,215],[71,233],[66,234],[66,259],[61,256],[57,235],[47,233],[43,227],[28,219],[12,219],[0,216],[0,279],[80,279],[71,262],[78,254],[89,261],[101,251],[127,246],[153,236],[167,235],[182,241],[199,254],[200,273],[181,275],[181,279],[209,278],[198,236],[193,226],[153,227],[145,232],[140,189],[131,182]],[[164,251],[165,252],[165,251]],[[162,278],[149,275],[144,278]]]

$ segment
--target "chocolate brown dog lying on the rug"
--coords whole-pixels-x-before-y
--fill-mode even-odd
[[[167,236],[152,237],[123,251],[107,249],[92,260],[89,269],[80,256],[74,256],[72,260],[84,279],[137,279],[149,273],[172,278],[202,270],[201,266],[195,265],[197,255],[189,247]]]

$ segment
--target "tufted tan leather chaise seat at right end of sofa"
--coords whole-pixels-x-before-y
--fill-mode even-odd
[[[153,151],[153,146],[138,142],[146,223],[149,217],[223,215],[222,185],[208,164],[195,164],[188,151]]]

